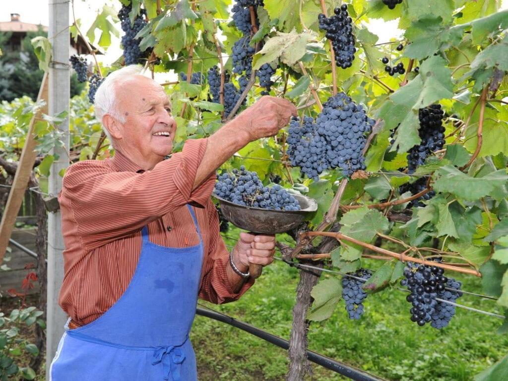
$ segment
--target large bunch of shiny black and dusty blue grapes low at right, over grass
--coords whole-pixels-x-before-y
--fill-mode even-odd
[[[436,266],[417,265],[408,262],[404,268],[404,279],[401,285],[411,292],[406,300],[412,304],[411,321],[419,326],[426,323],[434,328],[446,327],[455,314],[453,305],[437,301],[436,298],[455,302],[462,293],[461,283],[443,275],[444,270]],[[452,288],[457,291],[449,291]]]

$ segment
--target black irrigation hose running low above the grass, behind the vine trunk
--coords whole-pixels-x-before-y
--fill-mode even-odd
[[[257,336],[263,340],[266,340],[274,345],[277,345],[284,350],[288,350],[289,341],[284,340],[278,336],[272,335],[271,333],[265,332],[259,328],[253,327],[250,324],[240,322],[231,316],[204,308],[196,308],[196,313],[201,316],[210,317],[210,319],[217,320],[229,324],[233,327],[240,328],[241,330],[248,332],[254,336]],[[330,359],[329,357],[320,355],[312,351],[307,351],[307,359],[321,365],[327,369],[333,370],[336,373],[342,374],[343,376],[350,378],[354,381],[384,381],[383,378],[376,377],[374,375],[365,373],[361,369],[346,365],[339,361]]]

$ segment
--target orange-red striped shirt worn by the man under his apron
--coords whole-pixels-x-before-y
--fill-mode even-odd
[[[219,234],[211,193],[215,175],[192,191],[206,139],[188,140],[152,170],[116,151],[113,158],[71,165],[58,195],[65,275],[59,304],[78,324],[101,316],[128,287],[141,253],[141,229],[151,242],[197,245],[199,236],[186,207],[194,206],[204,244],[199,297],[212,303],[238,299],[253,284],[249,279],[233,293],[226,267],[229,250]]]

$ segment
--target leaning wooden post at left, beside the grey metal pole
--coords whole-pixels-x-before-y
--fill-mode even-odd
[[[16,223],[19,208],[23,203],[26,186],[28,185],[28,180],[30,179],[30,174],[37,156],[37,152],[35,151],[37,142],[33,135],[34,126],[38,121],[43,121],[42,114],[48,113],[47,72],[44,73],[41,87],[39,89],[39,96],[37,97],[37,102],[42,100],[46,101],[46,105],[39,108],[30,120],[25,145],[21,151],[18,168],[16,170],[16,175],[14,176],[14,182],[12,183],[11,192],[9,193],[9,198],[7,199],[7,205],[5,206],[4,214],[2,215],[2,222],[0,223],[0,264],[4,261],[4,255],[7,250],[7,246],[9,245],[9,238],[11,238],[12,229]]]

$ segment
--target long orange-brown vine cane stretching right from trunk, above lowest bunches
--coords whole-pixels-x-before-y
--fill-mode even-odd
[[[344,235],[342,233],[334,233],[334,232],[304,232],[304,233],[300,234],[301,238],[308,238],[308,237],[312,237],[312,236],[334,237],[336,240],[345,240],[345,241],[348,241],[348,242],[352,242],[352,243],[355,243],[355,244],[357,244],[359,246],[362,246],[362,247],[365,247],[365,248],[370,249],[372,251],[378,252],[380,254],[384,254],[386,256],[399,259],[402,262],[420,263],[420,264],[424,264],[424,265],[427,265],[427,266],[436,266],[436,267],[443,268],[445,270],[457,271],[457,272],[461,272],[463,274],[470,274],[470,275],[475,275],[475,276],[478,276],[478,277],[482,277],[482,274],[480,272],[478,272],[477,270],[466,269],[466,268],[457,267],[457,266],[451,266],[451,265],[448,265],[448,264],[434,262],[434,261],[426,261],[426,260],[420,259],[420,258],[408,257],[406,255],[403,255],[402,253],[397,253],[397,252],[390,251],[390,250],[387,250],[387,249],[384,249],[384,248],[381,248],[381,247],[377,247],[377,246],[371,245],[370,243],[365,243],[365,242],[359,241],[359,240],[357,240],[355,238],[348,237],[348,236],[346,236],[346,235]]]

